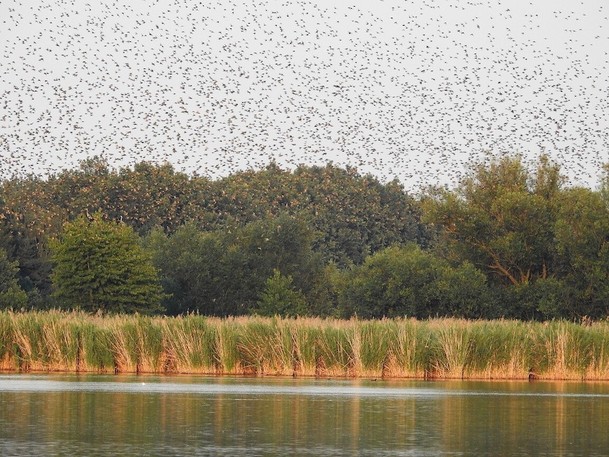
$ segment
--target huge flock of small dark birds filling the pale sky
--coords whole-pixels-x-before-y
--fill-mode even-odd
[[[93,155],[219,177],[351,165],[407,189],[609,161],[605,0],[0,1],[0,178]]]

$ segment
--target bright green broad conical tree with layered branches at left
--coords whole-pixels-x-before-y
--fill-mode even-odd
[[[62,307],[86,311],[161,311],[163,293],[150,255],[124,223],[100,213],[80,216],[51,243],[53,296]]]

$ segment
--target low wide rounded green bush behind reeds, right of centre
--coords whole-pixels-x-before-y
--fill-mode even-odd
[[[452,267],[416,245],[387,248],[338,278],[345,316],[362,318],[485,315],[490,295],[471,264]]]

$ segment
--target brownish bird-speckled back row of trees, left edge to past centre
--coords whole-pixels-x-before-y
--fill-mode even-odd
[[[340,265],[361,263],[393,243],[425,242],[418,203],[397,182],[381,184],[354,169],[274,164],[210,181],[169,164],[141,162],[111,169],[99,157],[48,179],[5,180],[0,186],[0,242],[19,262],[27,290],[50,293],[48,241],[66,221],[97,211],[140,236],[174,233],[186,223],[205,232],[229,232],[280,214],[306,220],[318,234],[316,252]]]

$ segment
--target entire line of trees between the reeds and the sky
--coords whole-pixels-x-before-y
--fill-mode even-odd
[[[212,180],[95,157],[0,183],[0,307],[600,319],[608,241],[608,180],[569,186],[546,156],[417,196],[332,164]]]

